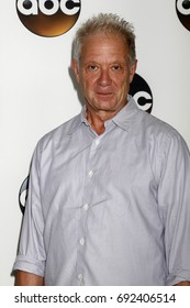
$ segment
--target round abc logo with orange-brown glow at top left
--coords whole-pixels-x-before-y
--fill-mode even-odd
[[[80,0],[16,0],[18,15],[31,32],[46,37],[69,31],[80,14]]]

